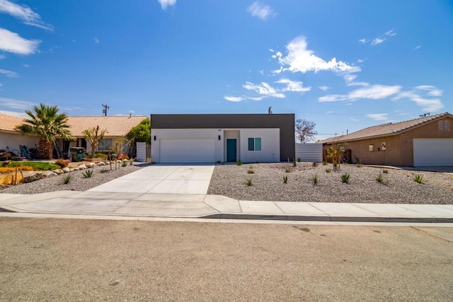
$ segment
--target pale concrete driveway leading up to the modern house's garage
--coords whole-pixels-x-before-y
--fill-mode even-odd
[[[150,165],[89,192],[207,194],[214,165]]]

